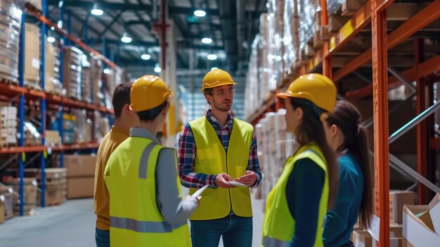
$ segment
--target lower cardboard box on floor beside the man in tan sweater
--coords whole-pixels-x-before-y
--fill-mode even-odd
[[[93,197],[95,177],[72,177],[67,179],[67,198]]]

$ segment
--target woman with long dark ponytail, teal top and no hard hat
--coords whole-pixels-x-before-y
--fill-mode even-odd
[[[353,246],[350,235],[358,216],[368,229],[373,214],[367,132],[361,125],[361,113],[347,101],[336,102],[324,129],[328,144],[339,156],[339,189],[335,205],[325,217],[324,246]]]

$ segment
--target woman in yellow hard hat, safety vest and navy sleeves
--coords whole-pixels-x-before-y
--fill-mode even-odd
[[[321,120],[333,111],[336,87],[328,77],[308,74],[277,96],[285,102],[286,131],[295,134],[300,147],[268,194],[263,246],[323,246],[322,226],[337,189],[338,167]]]

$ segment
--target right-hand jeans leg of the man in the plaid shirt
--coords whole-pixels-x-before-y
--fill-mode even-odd
[[[252,217],[230,217],[228,231],[222,236],[224,247],[252,247]]]

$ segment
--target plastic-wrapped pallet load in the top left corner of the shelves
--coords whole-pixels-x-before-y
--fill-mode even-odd
[[[18,84],[21,1],[0,0],[0,80]]]

